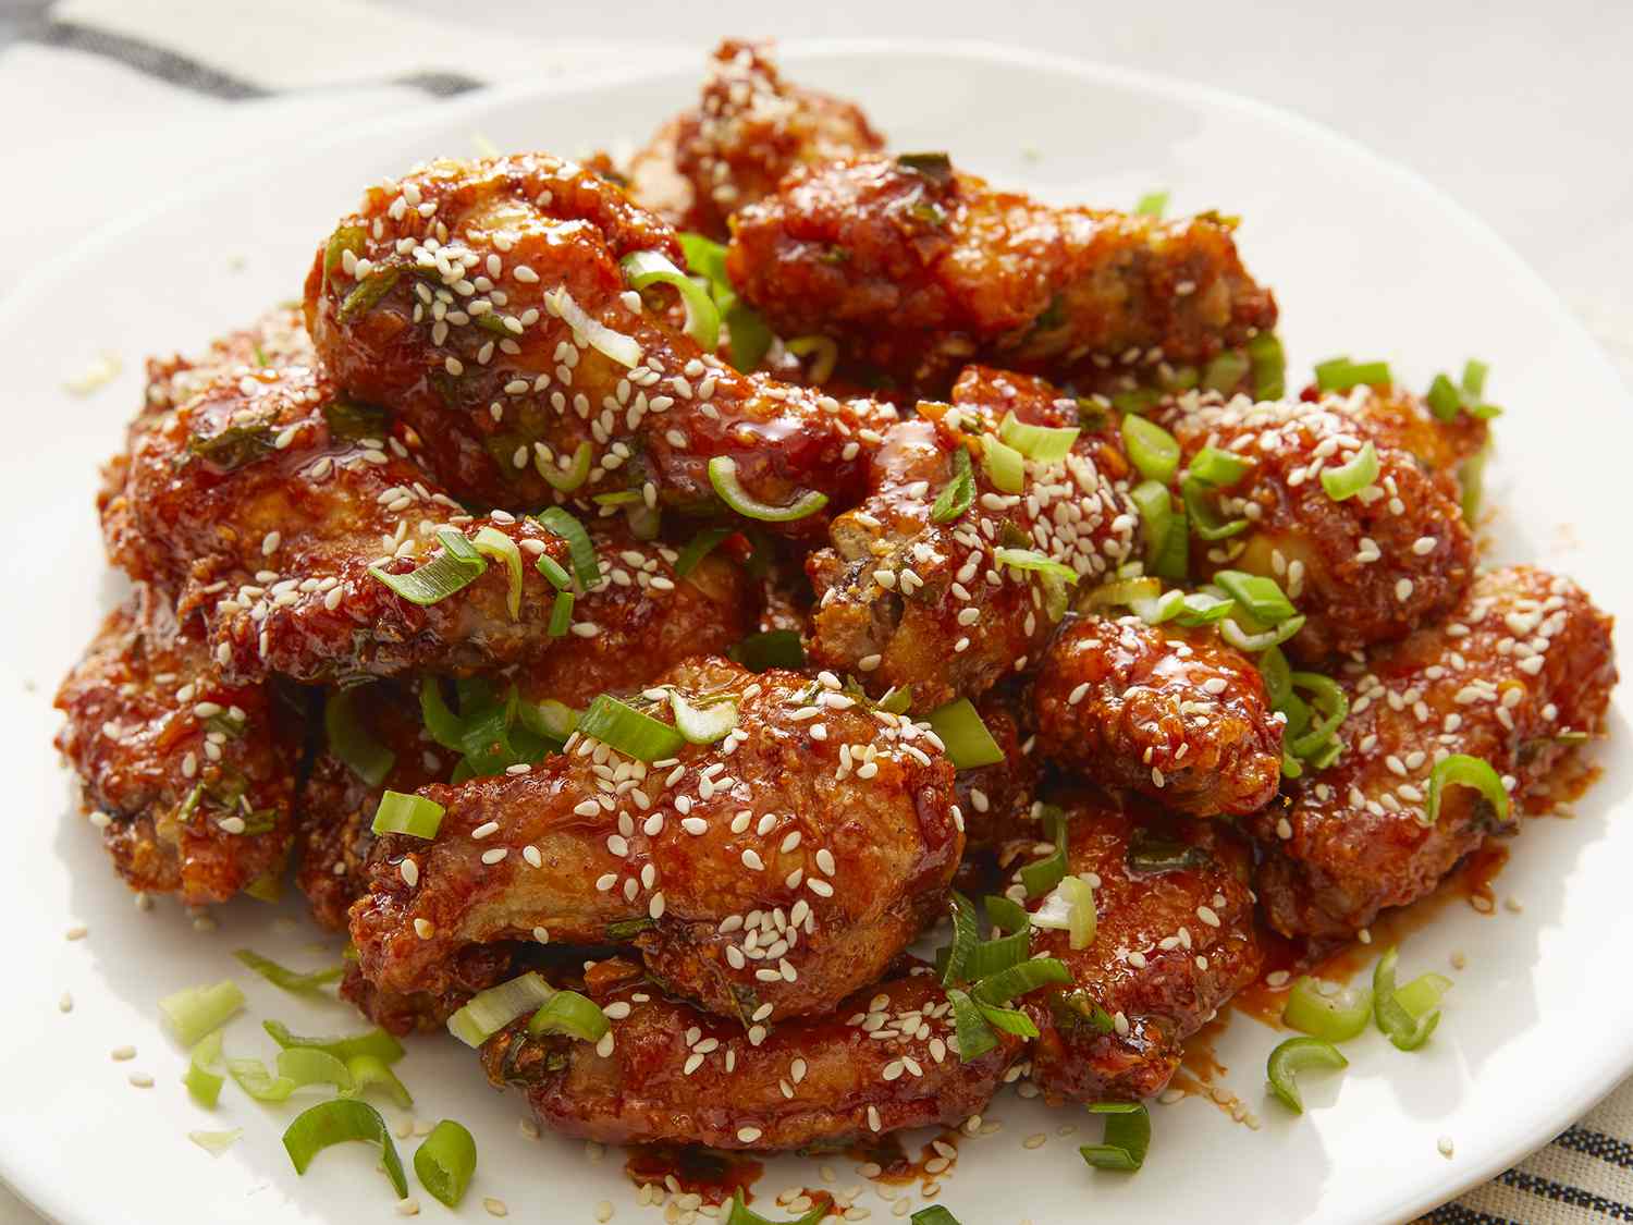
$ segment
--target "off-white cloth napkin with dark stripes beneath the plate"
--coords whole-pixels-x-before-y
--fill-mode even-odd
[[[87,176],[83,191],[56,183],[49,209],[28,193],[0,193],[0,232],[20,235],[13,248],[36,256],[67,250],[118,220],[105,194],[88,189],[93,181],[185,185],[405,106],[488,83],[581,75],[612,52],[624,69],[674,59],[673,47],[485,34],[361,0],[65,0],[0,11],[0,114],[51,116],[11,124],[11,163]],[[699,44],[699,64],[702,54]],[[1589,320],[1633,382],[1626,322]],[[26,1207],[0,1199],[0,1222],[31,1220]],[[1633,1222],[1633,1080],[1546,1148],[1422,1220]]]

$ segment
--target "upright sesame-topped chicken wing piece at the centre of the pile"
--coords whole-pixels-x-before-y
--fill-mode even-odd
[[[1089,583],[1130,555],[1138,516],[1128,462],[1094,431],[1063,462],[1029,462],[1024,497],[999,492],[972,452],[968,510],[934,521],[972,436],[998,430],[1009,412],[1030,425],[1078,423],[1076,402],[1043,387],[975,369],[950,408],[923,403],[885,433],[867,500],[834,519],[831,546],[807,560],[816,663],[861,676],[874,694],[911,686],[918,710],[978,696],[1035,660],[1063,611],[1047,598],[1050,581],[1063,593],[1060,580],[1001,564],[998,549],[1039,550]]]

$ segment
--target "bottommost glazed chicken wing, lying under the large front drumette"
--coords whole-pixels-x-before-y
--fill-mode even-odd
[[[588,990],[612,1021],[603,1047],[529,1037],[521,1021],[488,1039],[482,1063],[547,1127],[606,1143],[772,1152],[952,1125],[986,1106],[1021,1047],[999,1034],[998,1047],[960,1062],[952,1006],[911,959],[831,1013],[769,1034],[745,1034],[639,977]]]

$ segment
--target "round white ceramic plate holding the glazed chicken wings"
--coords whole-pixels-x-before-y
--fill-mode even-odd
[[[898,149],[950,147],[967,168],[1060,201],[1128,204],[1168,186],[1172,207],[1246,217],[1241,245],[1282,304],[1295,364],[1334,353],[1386,356],[1413,385],[1478,354],[1509,408],[1497,426],[1491,498],[1501,552],[1582,580],[1615,612],[1633,611],[1620,493],[1633,454],[1633,412],[1609,364],[1542,283],[1475,217],[1413,175],[1354,144],[1264,106],[1189,85],[1037,56],[981,49],[830,46],[789,52],[789,70],[861,100]],[[0,309],[11,446],[0,508],[10,524],[10,595],[0,601],[0,724],[10,745],[11,843],[0,856],[0,913],[11,988],[0,1011],[0,1174],[64,1222],[392,1218],[390,1191],[367,1150],[325,1153],[304,1179],[279,1145],[289,1109],[224,1093],[214,1114],[181,1088],[181,1052],[157,1024],[155,1000],[227,973],[251,1009],[227,1034],[235,1054],[269,1054],[256,1018],[315,1031],[358,1026],[340,1004],[297,1006],[251,982],[229,957],[240,944],[315,965],[307,924],[234,905],[214,934],[173,905],[140,913],[118,885],[91,828],[77,818],[49,748],[51,693],[119,583],[101,560],[91,511],[96,464],[137,403],[140,354],[196,350],[266,304],[296,297],[307,260],[371,178],[434,154],[469,154],[480,131],[501,147],[578,154],[640,139],[697,88],[696,65],[563,90],[493,93],[426,106],[371,132],[268,158],[245,176],[199,185],[44,270]],[[1478,201],[1476,201],[1478,206]],[[60,389],[100,350],[124,356],[93,399]],[[1630,696],[1612,717],[1628,745]],[[1006,1094],[996,1135],[968,1140],[941,1200],[965,1225],[988,1222],[1377,1222],[1408,1217],[1501,1171],[1550,1140],[1633,1067],[1633,947],[1626,864],[1633,862],[1633,769],[1599,751],[1604,779],[1574,820],[1528,823],[1497,882],[1520,913],[1450,906],[1414,936],[1406,969],[1448,969],[1462,951],[1448,1014],[1434,1042],[1403,1055],[1377,1034],[1352,1044],[1341,1081],[1311,1086],[1288,1117],[1264,1099],[1270,1031],[1238,1018],[1218,1044],[1223,1083],[1262,1130],[1189,1098],[1156,1107],[1155,1142],[1133,1176],[1092,1173],[1075,1148],[1092,1120]],[[287,915],[299,918],[299,906]],[[69,942],[72,924],[90,928]],[[333,956],[335,941],[330,941]],[[59,996],[73,1011],[59,1011]],[[137,1058],[109,1058],[118,1045]],[[155,1088],[127,1083],[150,1073]],[[519,1102],[487,1088],[452,1042],[418,1042],[403,1078],[421,1119],[457,1117],[482,1165],[465,1218],[482,1199],[532,1220],[591,1220],[607,1199],[619,1220],[652,1212],[609,1153],[518,1132]],[[387,1111],[392,1122],[400,1112]],[[1057,1134],[1068,1124],[1078,1134]],[[225,1156],[183,1137],[243,1127]],[[1035,1148],[1024,1137],[1045,1135]],[[1455,1155],[1437,1152],[1450,1137]],[[405,1156],[412,1145],[403,1145]],[[838,1186],[854,1163],[834,1161]],[[776,1194],[818,1183],[813,1165],[777,1161]],[[914,1207],[923,1202],[913,1189]],[[420,1196],[428,1215],[443,1209]],[[890,1204],[867,1191],[877,1217]],[[656,1217],[650,1217],[656,1218]]]

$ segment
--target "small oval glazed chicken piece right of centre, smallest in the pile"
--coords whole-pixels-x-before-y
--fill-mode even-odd
[[[1189,817],[1241,817],[1275,797],[1282,727],[1264,678],[1212,629],[1076,617],[1032,684],[1037,751]]]

